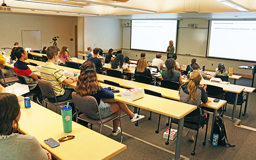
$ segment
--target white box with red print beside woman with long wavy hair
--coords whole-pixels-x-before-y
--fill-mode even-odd
[[[136,99],[142,98],[144,94],[144,88],[132,88],[130,90],[125,90],[122,92],[122,99],[134,101]]]

